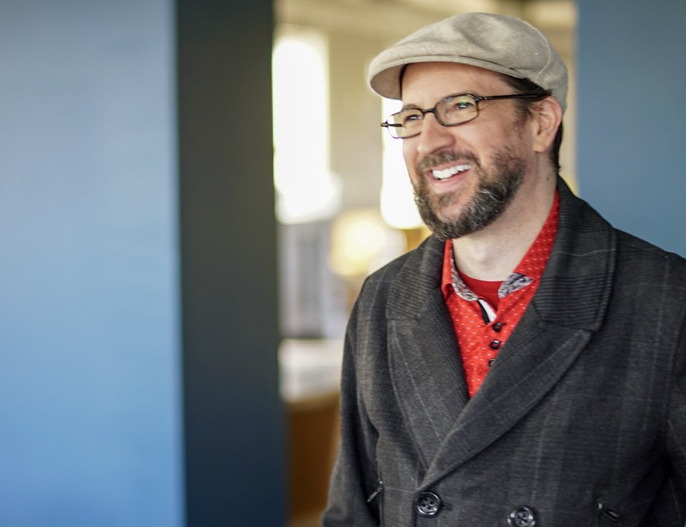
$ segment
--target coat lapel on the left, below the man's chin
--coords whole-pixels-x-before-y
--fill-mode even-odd
[[[468,400],[455,332],[440,292],[443,247],[429,238],[412,255],[394,280],[388,312],[390,375],[423,469]]]

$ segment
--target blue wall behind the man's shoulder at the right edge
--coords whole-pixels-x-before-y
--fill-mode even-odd
[[[686,256],[686,1],[577,3],[580,194]]]

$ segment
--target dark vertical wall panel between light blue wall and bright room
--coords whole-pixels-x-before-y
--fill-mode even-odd
[[[272,0],[178,0],[189,527],[285,525]]]

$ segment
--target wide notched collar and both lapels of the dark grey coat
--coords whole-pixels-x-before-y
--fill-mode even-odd
[[[429,237],[390,288],[388,355],[395,392],[423,460],[422,487],[505,434],[552,389],[602,326],[615,231],[558,180],[560,222],[541,284],[473,399],[440,292],[443,243]]]

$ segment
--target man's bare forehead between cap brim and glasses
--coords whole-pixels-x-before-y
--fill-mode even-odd
[[[401,87],[403,104],[433,104],[456,93],[501,95],[508,89],[505,81],[494,71],[454,62],[407,65]]]

